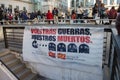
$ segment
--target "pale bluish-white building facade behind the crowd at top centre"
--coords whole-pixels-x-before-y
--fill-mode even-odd
[[[68,2],[66,0],[35,0],[35,9],[47,12],[56,7],[59,11],[67,11]]]

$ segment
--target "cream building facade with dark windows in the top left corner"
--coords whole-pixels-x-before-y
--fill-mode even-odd
[[[34,11],[34,3],[32,0],[0,0],[0,6],[4,9],[11,9],[14,13],[15,9]]]

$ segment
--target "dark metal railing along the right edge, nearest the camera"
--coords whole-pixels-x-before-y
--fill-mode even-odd
[[[112,32],[109,53],[110,80],[120,80],[120,36]]]

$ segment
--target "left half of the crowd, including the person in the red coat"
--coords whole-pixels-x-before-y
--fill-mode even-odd
[[[26,22],[26,21],[39,21],[39,20],[47,20],[48,23],[50,23],[50,21],[54,22],[58,19],[64,19],[65,18],[65,14],[62,12],[59,12],[57,8],[54,8],[52,10],[52,12],[50,10],[48,10],[48,12],[41,12],[39,11],[34,11],[34,12],[27,12],[27,10],[17,10],[15,9],[14,12],[12,12],[12,10],[9,9],[3,9],[2,7],[0,7],[0,23],[3,24],[7,23],[7,24],[11,24],[13,22],[18,23],[19,21],[21,21],[22,23]]]

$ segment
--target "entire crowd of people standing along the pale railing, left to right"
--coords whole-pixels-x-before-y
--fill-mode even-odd
[[[115,19],[117,14],[120,13],[120,6],[118,9],[115,9],[114,6],[111,7],[109,10],[105,7],[103,3],[99,6],[96,3],[93,7],[88,9],[83,9],[82,7],[78,7],[76,10],[72,10],[71,12],[60,12],[57,8],[54,8],[52,11],[48,10],[48,12],[43,13],[41,11],[34,11],[28,13],[27,10],[18,10],[15,9],[14,12],[10,9],[4,9],[0,7],[0,23],[3,24],[3,21],[10,24],[18,21],[26,22],[27,20],[43,20],[45,19],[49,24],[57,23],[60,19],[71,19],[74,23],[85,23],[84,19],[94,19],[93,21],[96,23],[98,17],[101,19],[99,24],[106,24],[104,23],[104,19],[109,19],[109,23],[112,23],[112,19]],[[87,20],[90,22],[91,20]]]

